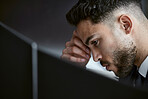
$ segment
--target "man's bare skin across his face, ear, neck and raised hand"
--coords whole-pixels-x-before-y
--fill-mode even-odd
[[[145,45],[148,32],[144,28],[146,30],[147,23],[143,27],[134,17],[126,14],[117,14],[112,25],[83,20],[77,25],[71,41],[66,43],[61,57],[85,66],[92,52],[94,61],[100,61],[117,76],[125,77],[133,65],[140,67],[148,55],[148,44]]]

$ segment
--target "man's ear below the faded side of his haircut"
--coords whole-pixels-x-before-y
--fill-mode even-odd
[[[132,21],[129,16],[121,15],[119,17],[119,23],[121,28],[125,31],[126,34],[130,34],[132,30]]]

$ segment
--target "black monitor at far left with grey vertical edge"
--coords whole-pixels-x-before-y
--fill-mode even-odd
[[[37,99],[36,43],[0,22],[0,99]]]

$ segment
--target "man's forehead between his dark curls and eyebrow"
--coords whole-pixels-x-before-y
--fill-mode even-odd
[[[91,35],[97,34],[98,36],[101,36],[107,30],[108,27],[105,24],[93,24],[90,20],[83,20],[77,25],[77,33],[83,43]]]

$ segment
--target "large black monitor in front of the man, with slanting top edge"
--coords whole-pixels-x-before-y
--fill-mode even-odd
[[[142,99],[148,92],[121,84],[38,50],[39,99]]]

